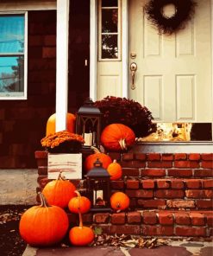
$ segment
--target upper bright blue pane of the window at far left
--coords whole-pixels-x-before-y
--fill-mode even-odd
[[[0,16],[0,54],[23,53],[24,16]]]

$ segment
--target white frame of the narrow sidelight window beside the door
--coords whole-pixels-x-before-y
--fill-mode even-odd
[[[117,0],[117,6],[102,7],[102,0],[98,1],[98,61],[122,61],[122,1]],[[117,9],[118,21],[116,33],[105,33],[106,35],[117,35],[117,58],[102,58],[102,10]]]

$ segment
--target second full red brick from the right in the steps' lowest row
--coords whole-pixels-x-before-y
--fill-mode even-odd
[[[160,235],[160,236],[172,236],[173,233],[173,227],[157,227],[157,226],[148,226],[148,225],[143,225],[141,227],[141,234],[143,235],[148,235],[148,236],[155,236],[155,235]]]

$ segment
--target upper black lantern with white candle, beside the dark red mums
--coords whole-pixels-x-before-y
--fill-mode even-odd
[[[91,150],[91,146],[100,147],[102,113],[89,98],[78,109],[76,132],[85,138],[83,150]]]

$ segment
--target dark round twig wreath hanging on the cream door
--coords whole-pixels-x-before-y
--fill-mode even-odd
[[[164,8],[169,4],[174,7],[172,16],[164,13]],[[160,34],[172,35],[185,28],[186,22],[194,16],[196,5],[193,0],[150,0],[145,5],[145,13]]]

